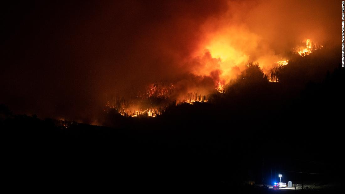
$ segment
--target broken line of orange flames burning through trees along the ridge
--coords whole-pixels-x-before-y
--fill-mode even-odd
[[[314,45],[310,39],[305,41],[305,47],[297,47],[297,49],[293,49],[295,53],[299,54],[300,56],[304,57],[312,53],[313,50],[321,49],[322,45]],[[224,57],[220,55],[220,58]],[[225,61],[225,62],[224,62]],[[220,63],[226,63],[226,60],[220,60]],[[219,62],[219,61],[217,61]],[[280,82],[278,79],[279,69],[283,68],[283,66],[289,63],[289,60],[286,58],[281,58],[281,60],[274,62],[276,67],[271,70],[270,75],[268,75],[269,82]],[[247,67],[249,65],[247,64]],[[217,81],[215,84],[215,90],[219,93],[225,93],[225,82],[223,79],[226,78],[223,75],[222,81]],[[181,103],[189,103],[194,104],[196,102],[207,102],[206,95],[198,94],[197,90],[193,92],[193,90],[189,90],[187,95],[181,95],[178,90],[179,87],[175,87],[173,84],[167,84],[163,82],[151,83],[148,87],[143,91],[138,91],[134,98],[130,101],[126,101],[124,99],[117,99],[113,100],[111,103],[106,104],[106,109],[108,110],[116,110],[122,116],[130,116],[130,117],[138,117],[140,115],[147,115],[149,117],[156,117],[157,115],[162,114],[165,111],[166,107],[171,104],[171,102],[176,102],[176,105]],[[178,94],[178,95],[177,95]],[[176,98],[176,95],[179,98]]]

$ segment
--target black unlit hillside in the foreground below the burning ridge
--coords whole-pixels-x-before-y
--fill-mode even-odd
[[[232,96],[216,96],[214,103],[170,107],[156,118],[107,114],[111,127],[66,128],[51,119],[14,115],[2,105],[6,184],[27,191],[73,186],[97,192],[340,193],[329,185],[342,180],[343,83],[340,68],[295,93],[286,92],[294,86],[249,83]],[[278,174],[285,183],[328,186],[248,186],[272,185]]]

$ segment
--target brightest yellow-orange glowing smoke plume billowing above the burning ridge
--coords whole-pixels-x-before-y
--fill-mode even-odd
[[[219,79],[227,84],[231,79],[236,79],[245,63],[250,60],[250,54],[259,45],[260,37],[251,33],[246,27],[234,26],[210,32],[205,25],[205,40],[195,52],[195,58],[204,59],[205,51],[210,58],[194,65],[192,73],[208,76],[212,71],[219,71]]]

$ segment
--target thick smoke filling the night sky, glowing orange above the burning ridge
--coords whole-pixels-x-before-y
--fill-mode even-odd
[[[338,1],[42,2],[8,7],[0,102],[91,123],[107,99],[150,83],[208,94],[307,38],[337,46]],[[14,17],[16,15],[16,17]]]

